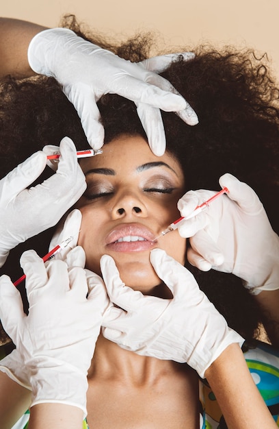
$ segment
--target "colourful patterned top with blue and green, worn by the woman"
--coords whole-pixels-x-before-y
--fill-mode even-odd
[[[252,378],[279,427],[279,352],[268,344],[258,342],[257,347],[244,352],[244,356]],[[207,380],[200,380],[200,405],[200,429],[227,429]],[[27,410],[12,429],[27,429],[28,421]],[[89,429],[86,421],[83,421],[83,429]]]

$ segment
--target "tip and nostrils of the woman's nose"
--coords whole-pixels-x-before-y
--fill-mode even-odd
[[[112,208],[112,217],[119,219],[122,217],[146,217],[147,210],[144,202],[136,193],[131,191],[122,192],[118,195]]]

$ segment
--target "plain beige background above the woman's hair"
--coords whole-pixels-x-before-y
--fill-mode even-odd
[[[267,52],[279,77],[279,0],[10,0],[0,10],[49,27],[70,12],[117,37],[156,30],[168,46],[204,40],[247,45]]]

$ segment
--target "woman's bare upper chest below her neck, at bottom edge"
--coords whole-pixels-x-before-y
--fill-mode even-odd
[[[92,383],[88,389],[90,429],[198,429],[198,381],[170,380],[131,387]]]

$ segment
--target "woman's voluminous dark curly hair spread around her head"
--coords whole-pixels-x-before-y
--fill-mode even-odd
[[[137,34],[116,44],[84,32],[75,16],[67,16],[62,26],[133,62],[150,55],[150,34]],[[183,51],[193,51],[196,56],[185,61],[178,55],[161,75],[191,104],[199,123],[191,127],[174,113],[161,114],[167,149],[181,162],[187,189],[218,190],[220,175],[232,173],[254,188],[278,232],[279,208],[274,201],[279,186],[279,90],[267,56],[249,49],[215,49],[209,45]],[[64,136],[72,138],[77,149],[89,147],[77,112],[55,79],[38,76],[16,80],[8,76],[1,83],[0,95],[2,177],[44,145],[59,145]],[[121,134],[146,138],[133,102],[105,95],[98,108],[105,143]],[[48,174],[46,169],[43,177]],[[17,278],[21,252],[32,247],[39,254],[47,253],[51,234],[48,230],[14,249],[2,271]],[[213,270],[202,273],[186,266],[228,324],[252,340],[265,315],[241,280],[232,274]]]

